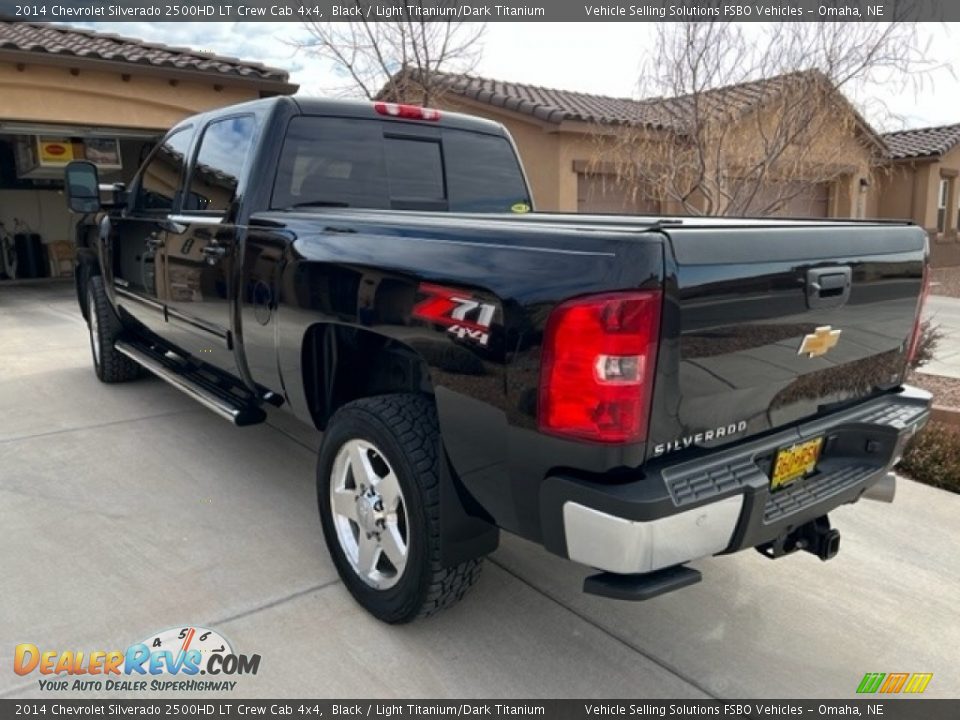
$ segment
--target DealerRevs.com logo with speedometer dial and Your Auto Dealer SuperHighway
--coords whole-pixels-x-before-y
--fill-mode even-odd
[[[256,675],[259,655],[234,652],[215,630],[170,628],[126,650],[49,650],[17,645],[13,671],[41,676],[41,690],[230,691],[239,675]],[[202,679],[199,676],[204,676]]]

